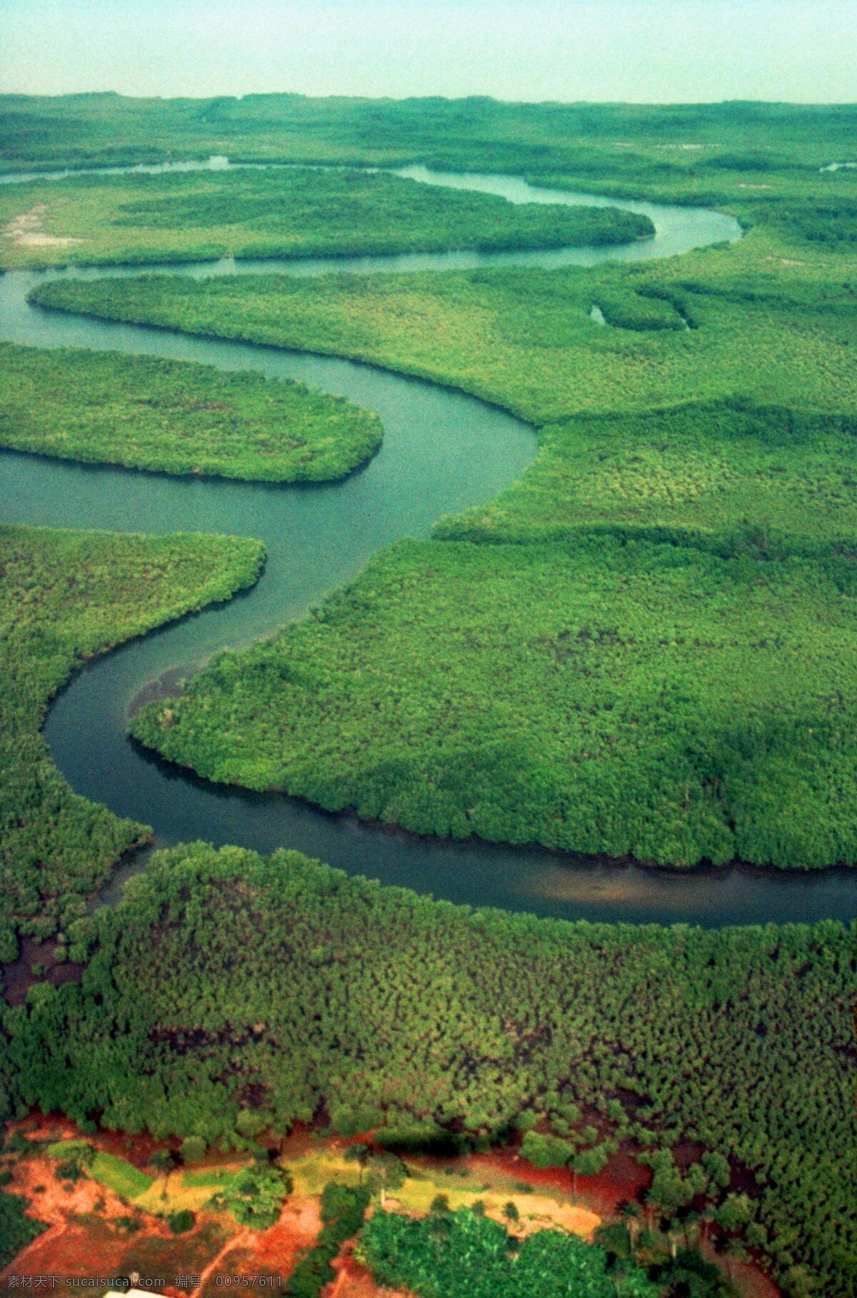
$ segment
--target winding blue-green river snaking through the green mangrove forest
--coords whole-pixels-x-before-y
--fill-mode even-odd
[[[226,160],[174,167],[219,169]],[[503,265],[592,266],[602,260],[666,257],[735,240],[738,223],[717,212],[626,202],[544,190],[514,177],[445,174],[414,166],[414,180],[499,193],[513,202],[615,205],[643,212],[653,239],[621,248],[548,252],[417,253],[390,257],[243,261],[145,267],[212,275],[331,270],[451,270]],[[6,175],[0,183],[32,179]],[[58,177],[52,177],[58,178]],[[153,824],[158,845],[205,839],[260,851],[297,848],[352,874],[400,884],[456,902],[503,906],[569,919],[657,923],[765,923],[849,918],[857,912],[857,870],[780,872],[735,866],[687,874],[593,861],[541,849],[416,839],[331,816],[282,794],[252,794],[196,779],[134,745],[126,735],[131,701],[162,681],[190,674],[222,645],[247,644],[297,618],[325,592],[351,579],[366,558],[401,536],[427,536],[440,514],[487,501],[525,470],[535,453],[532,430],[474,397],[369,365],[308,353],[196,339],[39,310],[27,304],[44,278],[122,276],[140,267],[13,271],[0,276],[0,337],[38,347],[90,347],[200,361],[221,370],[258,370],[348,397],[384,424],[379,453],[344,482],[288,487],[217,479],[169,478],[99,466],[0,454],[0,497],[9,522],[116,531],[201,531],[256,536],[267,548],[258,584],[231,602],[156,631],[87,666],[55,701],[45,736],[55,761],[78,793],[118,815]],[[593,323],[593,328],[599,326]],[[113,901],[131,857],[100,901]]]

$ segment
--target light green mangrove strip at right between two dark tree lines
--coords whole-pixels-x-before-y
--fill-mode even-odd
[[[513,487],[440,520],[435,536],[530,543],[610,528],[710,540],[748,527],[762,552],[857,537],[857,417],[730,401],[579,415],[548,424]]]

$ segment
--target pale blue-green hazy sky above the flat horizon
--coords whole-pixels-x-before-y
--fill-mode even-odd
[[[857,0],[0,0],[0,90],[857,100]]]

